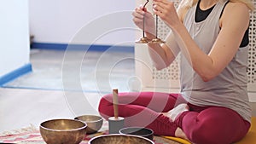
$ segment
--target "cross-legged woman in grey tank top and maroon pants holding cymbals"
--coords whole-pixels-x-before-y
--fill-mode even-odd
[[[250,128],[247,96],[248,0],[183,0],[177,11],[168,0],[154,0],[171,28],[165,44],[148,43],[157,69],[170,66],[178,54],[180,94],[123,93],[119,115],[125,126],[143,126],[156,135],[172,135],[196,144],[240,141]],[[135,24],[154,38],[154,18],[147,9],[133,12]],[[112,95],[100,101],[104,118],[113,116]]]

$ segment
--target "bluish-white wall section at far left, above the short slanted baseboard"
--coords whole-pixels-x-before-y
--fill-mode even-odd
[[[29,63],[27,0],[0,2],[0,78]]]

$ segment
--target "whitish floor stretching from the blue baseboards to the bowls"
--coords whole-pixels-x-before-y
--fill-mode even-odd
[[[33,72],[0,88],[0,134],[30,125],[38,128],[47,119],[98,114],[100,98],[114,85],[119,91],[131,89],[132,53],[68,53],[64,60],[65,51],[32,50]],[[74,72],[78,63],[81,66]]]

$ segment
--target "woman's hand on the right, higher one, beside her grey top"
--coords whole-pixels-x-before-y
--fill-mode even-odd
[[[161,20],[164,20],[166,25],[171,28],[180,24],[180,20],[177,15],[177,11],[174,7],[174,3],[168,0],[154,0],[153,2],[154,14],[160,16]]]

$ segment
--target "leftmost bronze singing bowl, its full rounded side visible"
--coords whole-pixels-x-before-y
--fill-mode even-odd
[[[75,119],[52,119],[40,124],[40,134],[47,144],[79,144],[87,124]]]

